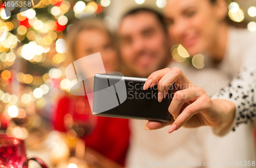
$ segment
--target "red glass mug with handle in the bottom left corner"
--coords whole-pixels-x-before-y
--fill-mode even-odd
[[[0,168],[27,168],[29,160],[35,160],[41,167],[47,168],[38,158],[27,159],[23,140],[0,135]]]

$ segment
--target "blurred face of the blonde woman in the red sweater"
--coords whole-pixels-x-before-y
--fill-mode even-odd
[[[100,52],[106,71],[116,71],[117,51],[110,37],[97,29],[83,30],[76,39],[76,59]]]

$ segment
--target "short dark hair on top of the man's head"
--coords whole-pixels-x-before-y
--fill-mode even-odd
[[[150,8],[135,8],[127,13],[125,13],[122,17],[122,20],[127,17],[127,16],[130,16],[130,15],[136,15],[138,13],[141,13],[141,12],[149,12],[149,13],[152,13],[156,16],[157,20],[159,21],[160,25],[163,27],[163,29],[167,32],[167,29],[166,29],[166,25],[164,23],[164,17],[162,14],[160,14],[159,12],[155,11],[154,9],[150,9]]]

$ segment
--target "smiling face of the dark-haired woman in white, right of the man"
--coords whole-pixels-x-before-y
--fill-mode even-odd
[[[191,56],[210,50],[226,16],[223,3],[222,0],[216,4],[209,0],[167,0],[164,14],[170,38],[182,44]]]

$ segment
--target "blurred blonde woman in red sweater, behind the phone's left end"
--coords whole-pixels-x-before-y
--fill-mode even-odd
[[[76,22],[69,30],[67,42],[73,62],[100,52],[106,71],[118,70],[116,46],[110,31],[100,19]],[[70,118],[74,124],[70,125]],[[60,98],[54,116],[56,130],[73,129],[92,148],[109,159],[124,165],[129,146],[128,119],[92,115],[87,96],[75,97],[67,93]]]

